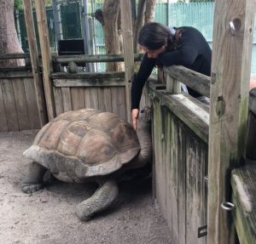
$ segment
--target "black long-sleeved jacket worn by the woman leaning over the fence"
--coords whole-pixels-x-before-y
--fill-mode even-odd
[[[211,76],[212,50],[201,32],[193,27],[180,27],[183,29],[181,40],[177,43],[177,50],[166,51],[157,59],[148,59],[143,56],[140,69],[131,85],[131,109],[139,108],[143,86],[150,76],[155,65],[183,65],[193,71]],[[191,88],[189,94],[199,96]]]

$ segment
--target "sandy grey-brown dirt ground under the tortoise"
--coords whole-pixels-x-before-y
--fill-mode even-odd
[[[21,192],[29,164],[22,152],[36,133],[0,133],[1,244],[172,243],[152,201],[150,179],[120,184],[119,200],[89,222],[81,222],[74,209],[94,192],[94,185],[56,181],[32,195]]]

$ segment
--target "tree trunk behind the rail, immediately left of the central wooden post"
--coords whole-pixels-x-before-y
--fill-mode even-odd
[[[106,54],[121,54],[122,39],[119,33],[119,0],[105,0],[102,7],[103,32],[105,39]],[[107,63],[107,71],[122,71],[123,64],[120,62]]]

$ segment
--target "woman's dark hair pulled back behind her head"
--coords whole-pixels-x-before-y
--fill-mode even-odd
[[[167,50],[177,49],[183,29],[177,28],[172,36],[170,29],[160,23],[149,22],[139,32],[138,43],[149,50],[156,50],[166,45]]]

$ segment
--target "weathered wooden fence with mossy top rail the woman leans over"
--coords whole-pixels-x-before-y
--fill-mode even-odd
[[[207,229],[208,107],[187,94],[173,94],[173,89],[170,94],[169,89],[178,87],[172,77],[187,84],[193,77],[201,92],[210,83],[209,77],[186,71],[166,68],[167,89],[163,83],[147,86],[154,108],[154,195],[173,243],[207,243],[207,237],[199,235]]]

